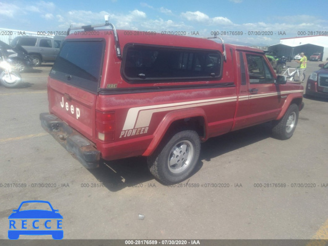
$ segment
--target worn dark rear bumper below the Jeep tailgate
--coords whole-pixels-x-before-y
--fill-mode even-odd
[[[40,121],[42,127],[86,168],[99,166],[99,150],[78,131],[49,113],[40,113]]]

